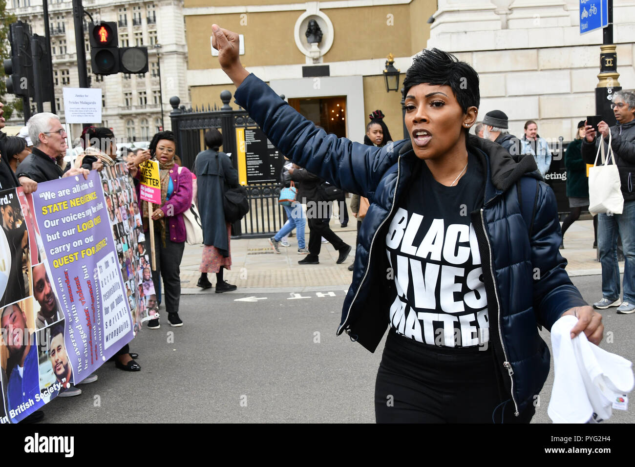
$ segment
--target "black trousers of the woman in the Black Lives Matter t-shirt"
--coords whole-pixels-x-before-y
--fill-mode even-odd
[[[514,403],[491,347],[443,348],[389,331],[375,383],[377,423],[529,423]]]

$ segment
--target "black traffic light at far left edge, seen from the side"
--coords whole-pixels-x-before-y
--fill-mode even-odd
[[[6,90],[10,94],[22,97],[34,95],[30,35],[31,28],[28,24],[22,21],[11,24],[9,29],[11,58],[4,60],[4,73],[9,75],[4,80]]]

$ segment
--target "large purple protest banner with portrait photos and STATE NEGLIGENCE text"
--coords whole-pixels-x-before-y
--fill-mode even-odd
[[[17,423],[130,342],[156,296],[123,164],[0,191],[0,214],[0,423]]]

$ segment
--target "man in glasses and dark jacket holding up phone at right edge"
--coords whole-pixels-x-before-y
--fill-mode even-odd
[[[605,121],[598,123],[605,149],[608,136],[615,154],[615,165],[620,172],[624,210],[621,214],[598,214],[598,250],[602,264],[602,299],[594,308],[618,306],[617,313],[635,312],[635,92],[617,91],[613,95],[613,113],[617,125],[609,127]],[[582,158],[594,163],[599,139],[591,125],[585,126],[582,142]],[[624,249],[624,299],[620,301],[620,270],[617,264],[617,236],[622,238]]]

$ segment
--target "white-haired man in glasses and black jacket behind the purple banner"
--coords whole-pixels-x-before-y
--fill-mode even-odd
[[[63,172],[57,158],[66,152],[66,132],[60,118],[48,112],[32,116],[27,122],[29,137],[33,143],[33,152],[18,167],[18,178],[29,177],[36,182],[70,177],[79,173],[88,177],[88,170],[71,168]]]

